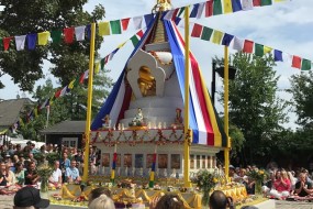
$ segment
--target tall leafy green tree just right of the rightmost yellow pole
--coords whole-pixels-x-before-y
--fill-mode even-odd
[[[258,163],[270,154],[267,144],[287,121],[286,103],[276,96],[279,77],[272,70],[271,56],[236,53],[230,59],[237,69],[230,80],[230,122],[244,133],[245,158]]]

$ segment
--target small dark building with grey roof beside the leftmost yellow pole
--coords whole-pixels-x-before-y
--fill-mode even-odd
[[[40,133],[44,135],[46,144],[64,144],[65,146],[81,148],[85,125],[86,121],[63,121]]]

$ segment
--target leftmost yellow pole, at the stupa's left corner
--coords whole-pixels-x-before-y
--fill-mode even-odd
[[[85,152],[83,152],[83,174],[82,182],[88,180],[89,168],[89,142],[90,142],[90,125],[91,125],[91,103],[92,103],[92,82],[93,82],[93,63],[94,63],[94,40],[96,40],[96,23],[91,23],[90,37],[90,56],[89,56],[89,75],[88,75],[88,99],[87,99],[87,119],[85,128]]]

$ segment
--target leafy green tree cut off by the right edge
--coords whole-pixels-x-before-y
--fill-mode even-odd
[[[298,116],[297,123],[302,127],[312,127],[313,122],[313,73],[301,73],[292,75],[291,88],[288,92],[292,94],[294,112]]]

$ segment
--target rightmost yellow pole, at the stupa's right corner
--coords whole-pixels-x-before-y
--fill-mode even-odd
[[[225,176],[228,179],[230,174],[230,151],[231,141],[228,138],[228,47],[224,47],[224,131],[226,134],[227,144],[224,150]]]

